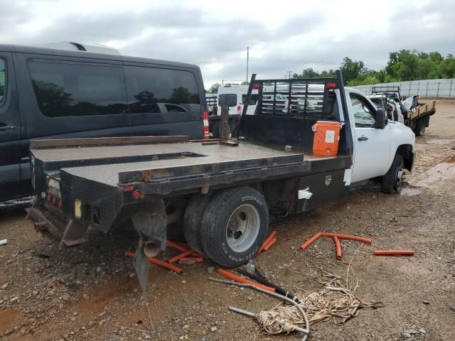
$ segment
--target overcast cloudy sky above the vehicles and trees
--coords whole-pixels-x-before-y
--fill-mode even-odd
[[[0,0],[0,43],[76,41],[200,65],[205,87],[250,75],[380,69],[390,51],[455,53],[455,1]]]

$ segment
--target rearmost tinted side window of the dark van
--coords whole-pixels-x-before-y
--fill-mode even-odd
[[[125,66],[124,71],[130,113],[200,111],[192,72],[138,66]]]

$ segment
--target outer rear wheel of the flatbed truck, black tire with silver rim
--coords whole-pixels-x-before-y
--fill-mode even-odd
[[[268,231],[269,209],[262,194],[250,187],[231,188],[210,200],[200,240],[209,259],[234,268],[259,251]]]

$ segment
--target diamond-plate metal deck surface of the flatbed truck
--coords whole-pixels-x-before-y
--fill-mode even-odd
[[[81,148],[34,149],[33,156],[43,163],[60,163],[60,172],[109,186],[125,182],[125,175],[151,171],[154,180],[194,174],[193,168],[210,166],[218,171],[234,171],[246,166],[279,166],[323,161],[336,157],[312,156],[304,151],[285,151],[282,146],[238,146],[188,142],[179,144],[139,144],[126,146],[85,146]],[[130,158],[134,156],[134,158]],[[140,161],[139,161],[140,160]],[[90,162],[91,161],[91,162]],[[98,164],[105,161],[105,164]],[[65,162],[68,166],[65,167]],[[73,163],[81,166],[72,167]],[[87,166],[82,166],[87,163]],[[95,165],[94,165],[95,163]],[[191,168],[191,169],[190,169]],[[216,171],[213,169],[213,171]],[[53,173],[51,169],[50,174]],[[57,175],[58,176],[58,175]]]

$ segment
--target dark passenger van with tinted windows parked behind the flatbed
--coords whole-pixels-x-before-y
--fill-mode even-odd
[[[0,202],[33,192],[30,139],[203,138],[198,66],[65,46],[0,45]]]

